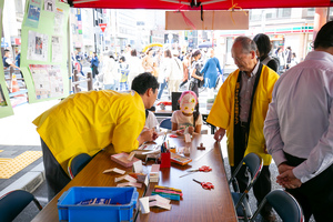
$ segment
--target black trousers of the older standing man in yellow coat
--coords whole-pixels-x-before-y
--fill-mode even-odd
[[[243,151],[245,152],[246,137],[248,137],[246,130],[244,128],[242,128],[241,133],[239,133],[234,137],[236,140],[239,140],[238,144],[243,145],[243,148],[244,148]],[[244,152],[241,153],[242,157],[244,155]],[[241,160],[235,160],[234,167],[230,167],[231,173],[233,173],[235,171],[235,169],[240,164],[240,162],[241,162]],[[238,180],[241,192],[245,191],[249,180],[250,180],[245,170],[246,170],[246,168],[243,165],[236,175],[236,180]],[[234,188],[234,184],[233,184],[233,188]],[[253,193],[258,201],[258,205],[261,203],[261,201],[264,199],[264,196],[271,192],[271,190],[272,190],[272,182],[271,182],[270,165],[264,165],[253,185]],[[261,211],[261,214],[268,214],[268,213],[270,213],[271,210],[272,210],[272,206],[269,204],[265,204]]]

